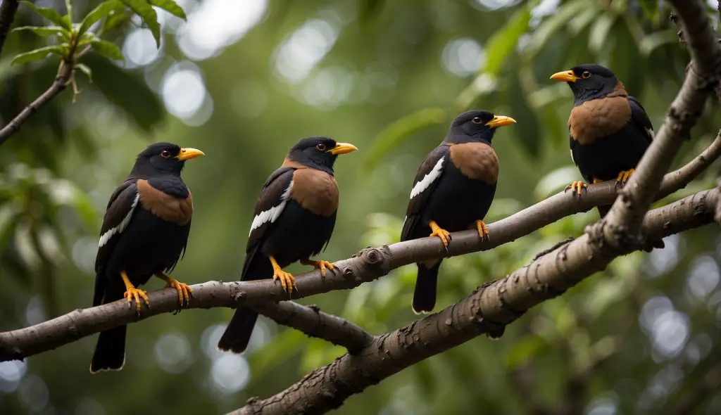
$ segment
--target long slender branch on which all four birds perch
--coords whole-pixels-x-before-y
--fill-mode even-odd
[[[721,137],[717,137],[704,153],[686,166],[667,174],[659,197],[681,189],[698,176],[709,164],[721,156]],[[569,193],[559,193],[536,203],[508,218],[489,225],[490,239],[480,241],[474,231],[457,232],[448,246],[451,255],[485,251],[514,241],[522,236],[554,223],[565,216],[581,213],[598,205],[609,205],[616,198],[613,183],[592,184],[578,200]],[[296,277],[296,298],[357,287],[363,282],[376,280],[392,269],[419,260],[438,258],[445,254],[438,238],[420,238],[377,249],[364,249],[350,259],[337,262],[340,272],[329,272],[325,278],[315,270]],[[99,331],[122,324],[141,321],[177,308],[174,290],[156,290],[149,293],[151,308],[136,316],[124,300],[72,311],[35,326],[0,333],[0,361],[23,359],[33,354],[55,349],[75,342]],[[273,280],[247,282],[204,282],[193,285],[191,308],[231,307],[286,300],[286,294]]]

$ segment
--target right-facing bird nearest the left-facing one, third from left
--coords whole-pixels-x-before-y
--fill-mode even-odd
[[[438,236],[444,246],[449,232],[475,228],[488,235],[483,218],[493,201],[498,157],[491,147],[496,128],[516,122],[487,111],[468,111],[451,123],[446,139],[425,156],[413,181],[401,241]],[[419,262],[413,311],[431,311],[441,259]]]

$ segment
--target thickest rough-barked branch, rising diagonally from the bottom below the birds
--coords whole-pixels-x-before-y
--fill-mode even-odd
[[[706,190],[650,211],[644,220],[649,236],[668,236],[711,222],[718,195],[717,189]],[[481,334],[497,336],[529,308],[564,293],[611,261],[614,256],[605,250],[593,255],[593,238],[585,234],[439,313],[378,336],[362,352],[339,357],[275,396],[249,400],[230,415],[322,414],[421,360]]]

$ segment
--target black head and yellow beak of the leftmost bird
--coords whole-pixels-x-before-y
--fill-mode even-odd
[[[139,179],[156,174],[177,174],[185,166],[185,161],[203,156],[203,151],[195,148],[181,148],[172,143],[151,144],[136,158],[131,175]]]

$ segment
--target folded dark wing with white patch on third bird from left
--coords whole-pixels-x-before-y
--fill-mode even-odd
[[[430,195],[433,194],[433,190],[438,185],[441,176],[443,176],[447,162],[448,146],[438,146],[428,153],[423,163],[420,164],[413,180],[413,189],[410,192],[406,218],[401,232],[401,241],[412,238],[411,233],[413,233],[423,209],[428,204]]]

